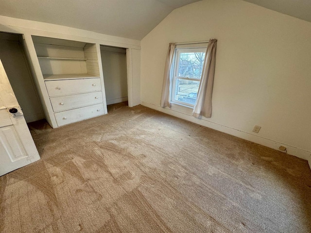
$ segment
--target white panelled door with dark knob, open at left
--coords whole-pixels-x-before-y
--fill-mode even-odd
[[[40,159],[0,60],[0,176]]]

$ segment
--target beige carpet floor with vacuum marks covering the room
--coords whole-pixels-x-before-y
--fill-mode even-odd
[[[58,129],[0,177],[2,233],[311,232],[307,161],[124,103]]]

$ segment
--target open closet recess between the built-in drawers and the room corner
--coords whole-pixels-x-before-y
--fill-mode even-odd
[[[126,49],[101,45],[101,57],[108,112],[112,104],[128,106]]]

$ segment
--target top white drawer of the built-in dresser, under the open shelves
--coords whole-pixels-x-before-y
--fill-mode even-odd
[[[101,79],[73,79],[45,81],[50,97],[102,90]]]

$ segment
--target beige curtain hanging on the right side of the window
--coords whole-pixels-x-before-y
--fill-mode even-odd
[[[210,39],[207,45],[201,82],[192,116],[210,117],[212,112],[212,90],[215,72],[216,39]]]

